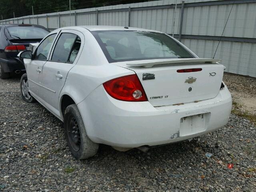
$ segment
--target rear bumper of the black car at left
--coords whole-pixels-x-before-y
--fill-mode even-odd
[[[25,66],[22,62],[15,59],[2,59],[0,58],[0,63],[4,72],[15,72],[16,70],[25,71]]]

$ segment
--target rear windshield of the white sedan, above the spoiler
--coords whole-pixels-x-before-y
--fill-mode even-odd
[[[193,58],[166,34],[144,31],[92,31],[108,62]]]

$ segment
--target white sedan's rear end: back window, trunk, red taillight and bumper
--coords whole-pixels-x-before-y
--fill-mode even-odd
[[[197,58],[162,33],[92,34],[110,64],[131,72],[104,82],[78,104],[92,141],[123,148],[155,146],[227,123],[232,98],[218,60]]]

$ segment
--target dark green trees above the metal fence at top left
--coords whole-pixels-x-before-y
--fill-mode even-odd
[[[110,6],[117,4],[128,4],[146,2],[148,0],[70,0],[71,10]],[[0,0],[0,20],[52,12],[68,11],[69,0]],[[1,16],[2,14],[2,16]]]

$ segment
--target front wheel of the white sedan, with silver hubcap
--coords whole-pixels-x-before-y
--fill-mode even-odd
[[[22,99],[28,103],[36,102],[35,98],[31,96],[28,90],[28,76],[24,73],[20,78],[20,92]]]

